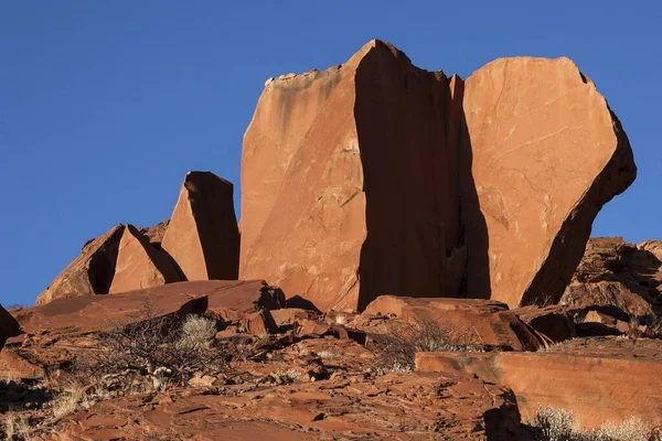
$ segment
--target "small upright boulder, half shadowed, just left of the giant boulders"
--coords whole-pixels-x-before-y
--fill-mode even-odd
[[[189,172],[161,247],[186,280],[236,280],[239,232],[233,185],[210,172]]]

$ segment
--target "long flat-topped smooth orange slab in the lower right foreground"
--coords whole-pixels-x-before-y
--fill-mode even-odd
[[[522,418],[538,406],[573,410],[583,427],[640,417],[662,423],[662,363],[626,356],[541,353],[418,353],[419,372],[478,375],[511,388]]]

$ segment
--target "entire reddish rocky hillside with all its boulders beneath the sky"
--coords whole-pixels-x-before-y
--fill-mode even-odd
[[[267,80],[241,224],[233,185],[189,172],[169,220],[115,226],[36,306],[0,306],[0,372],[73,375],[153,303],[150,320],[210,320],[205,351],[231,347],[235,375],[190,373],[196,391],[149,409],[113,389],[111,406],[56,419],[62,439],[526,439],[541,406],[589,428],[662,424],[662,241],[589,239],[636,174],[570,60],[500,58],[462,79],[374,40]]]

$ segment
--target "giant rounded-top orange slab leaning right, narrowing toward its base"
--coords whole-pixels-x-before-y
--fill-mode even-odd
[[[627,136],[568,58],[489,63],[466,80],[463,108],[467,292],[557,302],[598,211],[634,180]]]

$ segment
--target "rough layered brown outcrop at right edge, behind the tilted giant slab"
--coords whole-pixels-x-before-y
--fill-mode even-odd
[[[660,241],[627,244],[622,237],[591,238],[562,303],[575,309],[618,306],[651,320],[662,312]]]

